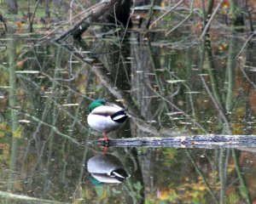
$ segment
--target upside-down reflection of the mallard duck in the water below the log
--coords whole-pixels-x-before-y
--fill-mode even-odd
[[[87,169],[91,175],[90,181],[96,185],[119,184],[130,177],[121,161],[109,154],[91,157],[87,162]]]

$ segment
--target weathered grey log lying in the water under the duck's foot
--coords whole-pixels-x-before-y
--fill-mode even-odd
[[[114,147],[235,148],[256,147],[256,135],[193,135],[172,138],[109,139],[92,144]]]

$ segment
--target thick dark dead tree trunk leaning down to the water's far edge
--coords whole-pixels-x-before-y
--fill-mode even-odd
[[[99,19],[107,13],[107,19],[109,21],[123,26],[131,26],[130,8],[131,0],[102,1],[85,11],[84,17],[82,17],[81,20],[55,40],[61,41],[67,37],[80,39],[84,31],[86,31],[93,23],[99,22]]]

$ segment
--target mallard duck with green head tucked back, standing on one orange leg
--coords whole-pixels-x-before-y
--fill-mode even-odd
[[[96,99],[89,106],[90,114],[87,122],[108,142],[107,133],[118,129],[129,117],[125,110],[118,105],[109,104],[104,99]]]

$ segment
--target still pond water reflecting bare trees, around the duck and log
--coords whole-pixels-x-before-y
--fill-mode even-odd
[[[218,33],[211,46],[180,35],[131,35],[121,47],[118,37],[1,39],[2,203],[255,201],[255,148],[110,147],[104,156],[91,143],[101,137],[86,121],[98,98],[131,115],[112,139],[256,134],[255,44],[237,55],[243,34]]]

